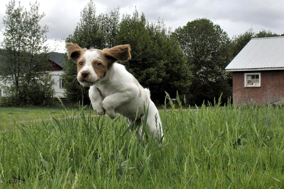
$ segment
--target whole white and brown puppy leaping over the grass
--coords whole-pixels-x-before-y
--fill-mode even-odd
[[[94,111],[99,115],[108,114],[114,118],[116,113],[140,125],[138,138],[141,140],[141,119],[149,107],[147,125],[156,140],[163,136],[162,123],[158,109],[150,99],[150,91],[143,88],[137,79],[126,71],[117,60],[126,61],[131,58],[128,44],[118,45],[103,50],[81,48],[78,44],[66,43],[68,58],[77,63],[77,80],[83,86],[90,87],[89,97]],[[141,119],[140,119],[141,118]],[[133,132],[134,126],[131,128]],[[164,141],[164,137],[163,137]]]

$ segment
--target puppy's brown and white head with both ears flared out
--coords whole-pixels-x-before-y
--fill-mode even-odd
[[[117,60],[131,58],[130,45],[118,45],[103,50],[81,48],[78,44],[66,43],[68,58],[77,63],[77,80],[83,86],[92,86],[102,80]]]

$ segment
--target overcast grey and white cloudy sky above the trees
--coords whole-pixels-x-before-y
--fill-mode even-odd
[[[284,33],[284,1],[283,0],[93,0],[96,12],[108,13],[120,8],[120,15],[132,14],[136,9],[139,14],[145,14],[149,22],[155,22],[160,18],[166,27],[172,27],[172,31],[179,26],[185,26],[187,22],[197,18],[208,18],[214,24],[226,31],[229,37],[244,33],[249,28],[258,32],[262,29],[271,30],[272,33]],[[17,6],[18,7],[18,1]],[[21,5],[27,10],[29,3],[35,0],[22,0]],[[47,25],[49,32],[47,39],[53,48],[58,44],[57,52],[66,52],[64,42],[69,34],[73,34],[74,28],[80,20],[80,12],[89,0],[38,0],[39,12],[46,15],[41,20],[41,25]],[[8,0],[0,2],[0,29],[3,30],[3,17],[5,16]],[[3,36],[0,33],[0,40]]]

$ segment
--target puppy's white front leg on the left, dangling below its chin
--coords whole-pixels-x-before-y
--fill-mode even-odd
[[[89,98],[91,100],[94,111],[96,111],[100,116],[104,115],[105,110],[102,103],[103,97],[101,96],[101,92],[95,86],[90,86]]]

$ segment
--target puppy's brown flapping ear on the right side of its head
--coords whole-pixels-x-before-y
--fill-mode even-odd
[[[108,64],[112,64],[117,60],[129,60],[131,58],[130,50],[130,45],[124,44],[115,46],[113,48],[105,48],[103,50],[103,54],[105,55]]]

